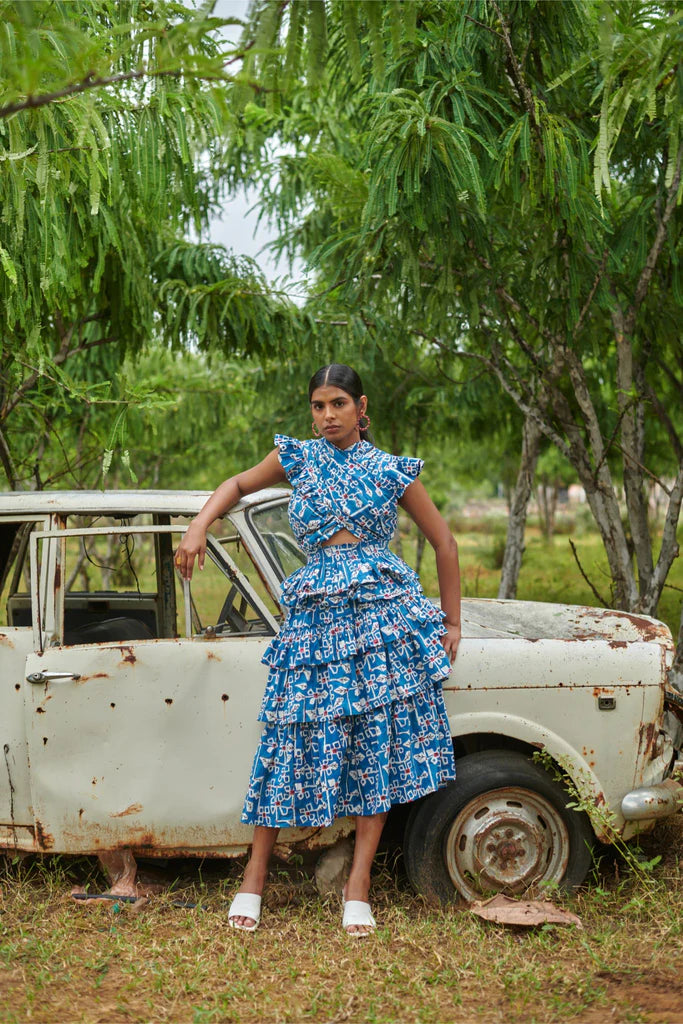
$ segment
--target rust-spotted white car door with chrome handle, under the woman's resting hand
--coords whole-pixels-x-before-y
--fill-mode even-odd
[[[112,532],[117,566],[126,570],[115,591],[113,565],[103,566],[111,556],[97,548]],[[176,547],[181,531],[173,526],[32,539],[36,650],[26,664],[25,714],[42,849],[220,854],[240,853],[251,840],[240,813],[260,732],[261,656],[278,624],[210,540],[191,587],[171,568],[178,635],[147,635],[155,601],[168,600],[168,565],[153,555],[156,544],[172,558],[168,534]],[[85,598],[67,591],[74,544],[87,546],[89,569],[106,568],[109,589],[95,580]],[[54,574],[40,581],[45,550],[55,545]],[[71,602],[80,617],[70,638]],[[92,635],[83,623],[88,606],[96,611]],[[168,608],[158,610],[158,622],[168,623]]]

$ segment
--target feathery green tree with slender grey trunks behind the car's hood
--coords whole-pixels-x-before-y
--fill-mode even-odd
[[[409,6],[415,31],[398,32],[394,12]],[[299,152],[317,156],[314,187],[301,161],[290,184],[288,244],[297,218],[306,230],[327,215],[312,262],[338,301],[372,319],[399,297],[416,336],[497,377],[586,488],[614,604],[653,613],[683,496],[679,12],[495,0],[327,9],[327,75],[303,117],[287,92],[283,117],[268,115],[290,144],[307,115]],[[325,109],[338,135],[362,141],[345,168],[328,156]],[[655,557],[645,483],[664,438]]]

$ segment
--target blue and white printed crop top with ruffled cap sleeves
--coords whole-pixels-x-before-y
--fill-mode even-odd
[[[325,437],[300,441],[275,434],[275,444],[294,488],[290,523],[307,554],[340,529],[359,541],[387,544],[396,528],[396,503],[424,465],[369,441],[338,449]]]

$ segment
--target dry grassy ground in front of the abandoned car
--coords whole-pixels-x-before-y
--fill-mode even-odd
[[[610,853],[555,897],[584,928],[521,930],[415,896],[380,860],[377,934],[352,940],[335,898],[275,869],[254,935],[227,927],[240,865],[170,864],[173,897],[141,909],[78,904],[90,861],[14,866],[4,879],[0,1014],[7,1022],[667,1022],[683,1020],[683,817],[643,840],[634,876]]]

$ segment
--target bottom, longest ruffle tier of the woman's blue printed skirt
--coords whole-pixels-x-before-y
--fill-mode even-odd
[[[440,686],[368,714],[265,725],[242,820],[322,827],[379,814],[456,776]]]

